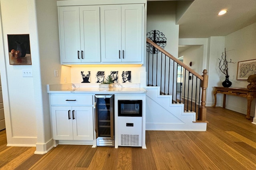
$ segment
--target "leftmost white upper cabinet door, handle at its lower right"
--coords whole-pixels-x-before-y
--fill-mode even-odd
[[[59,29],[62,62],[81,62],[79,7],[59,7]]]

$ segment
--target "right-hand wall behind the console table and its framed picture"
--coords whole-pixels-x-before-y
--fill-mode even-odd
[[[247,80],[236,80],[237,66],[238,61],[256,59],[256,23],[227,35],[225,47],[226,51],[232,50],[227,53],[227,57],[236,62],[236,64],[228,64],[229,80],[232,82],[232,87],[246,88],[249,84]],[[254,99],[251,106],[251,116],[254,116],[255,102]],[[246,98],[227,95],[226,108],[246,114],[247,100]]]

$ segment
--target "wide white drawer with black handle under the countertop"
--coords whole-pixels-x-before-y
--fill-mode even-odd
[[[92,105],[92,95],[51,95],[51,105]]]

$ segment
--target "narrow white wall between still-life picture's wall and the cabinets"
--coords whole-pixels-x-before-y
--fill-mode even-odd
[[[62,69],[60,65],[60,46],[58,34],[58,11],[56,0],[30,0],[35,2],[35,18],[30,25],[34,39],[35,54],[38,54],[36,62],[32,63],[33,70],[37,70],[34,76],[34,95],[36,100],[36,127],[37,143],[36,153],[43,154],[52,147],[52,128],[50,119],[49,96],[46,84],[58,84],[61,82]],[[32,14],[30,14],[32,16]],[[37,25],[33,25],[37,21]],[[37,31],[37,32],[36,32]],[[37,36],[36,36],[37,35]],[[33,47],[33,46],[32,46]],[[54,77],[54,70],[59,71],[59,76]]]

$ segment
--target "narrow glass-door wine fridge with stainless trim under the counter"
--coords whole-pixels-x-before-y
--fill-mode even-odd
[[[114,147],[114,94],[96,94],[94,109],[97,146]]]

